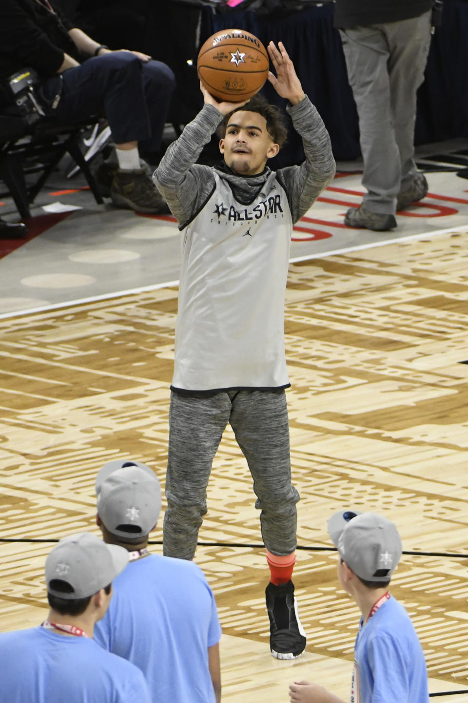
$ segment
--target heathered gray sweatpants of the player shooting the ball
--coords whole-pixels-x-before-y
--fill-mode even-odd
[[[168,507],[164,515],[163,552],[192,559],[202,517],[211,465],[229,423],[236,436],[257,496],[262,538],[276,555],[296,547],[299,494],[291,485],[286,394],[241,390],[213,394],[171,392],[166,475]]]

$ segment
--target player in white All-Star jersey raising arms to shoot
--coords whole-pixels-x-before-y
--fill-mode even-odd
[[[293,659],[305,649],[291,576],[296,507],[291,484],[284,295],[293,223],[335,173],[330,138],[281,42],[268,46],[306,160],[267,167],[286,138],[281,112],[254,96],[205,104],[169,146],[154,173],[182,231],[182,271],[171,385],[164,516],[166,555],[196,548],[213,457],[229,423],[253,477],[271,580],[266,589],[270,650]],[[220,167],[197,165],[220,128]]]

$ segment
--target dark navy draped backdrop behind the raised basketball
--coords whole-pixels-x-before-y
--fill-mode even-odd
[[[126,14],[128,22],[124,21]],[[200,8],[180,1],[133,0],[128,4],[128,0],[78,0],[76,16],[83,29],[112,49],[140,49],[171,66],[178,80],[171,121],[182,124],[191,120],[202,104],[196,54],[210,34],[236,27],[253,32],[264,44],[281,39],[330,132],[335,158],[359,156],[356,108],[340,35],[333,28],[333,4],[267,14],[240,10],[215,13],[210,6]],[[417,144],[468,136],[467,37],[468,2],[445,0],[442,25],[432,39],[426,80],[418,95]],[[273,102],[284,103],[269,84],[264,91]],[[302,158],[300,139],[291,132],[273,165],[296,163]]]

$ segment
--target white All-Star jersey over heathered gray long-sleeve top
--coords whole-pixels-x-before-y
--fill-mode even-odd
[[[330,139],[308,98],[289,108],[306,160],[239,176],[196,165],[222,120],[205,105],[154,174],[182,236],[176,391],[289,385],[284,292],[293,222],[333,178]]]

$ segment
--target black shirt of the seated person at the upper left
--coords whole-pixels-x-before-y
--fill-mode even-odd
[[[62,65],[64,53],[81,62],[67,31],[72,27],[47,8],[46,0],[0,0],[0,79],[25,67],[50,78]]]

